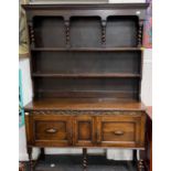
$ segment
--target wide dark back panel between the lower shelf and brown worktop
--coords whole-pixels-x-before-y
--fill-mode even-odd
[[[139,78],[36,78],[38,97],[137,98]]]

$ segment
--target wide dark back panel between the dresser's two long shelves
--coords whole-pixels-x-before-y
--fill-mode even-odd
[[[34,73],[140,74],[141,52],[34,52]]]

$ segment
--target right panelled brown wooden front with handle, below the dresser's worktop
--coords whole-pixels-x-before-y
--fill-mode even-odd
[[[97,119],[97,143],[106,147],[142,147],[143,116],[107,116]]]

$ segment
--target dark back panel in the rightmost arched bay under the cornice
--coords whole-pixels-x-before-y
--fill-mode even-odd
[[[107,46],[137,46],[137,17],[109,17],[107,19]]]

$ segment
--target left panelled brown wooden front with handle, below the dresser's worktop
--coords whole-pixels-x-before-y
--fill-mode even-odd
[[[63,147],[72,145],[72,118],[70,116],[33,116],[35,146]]]

